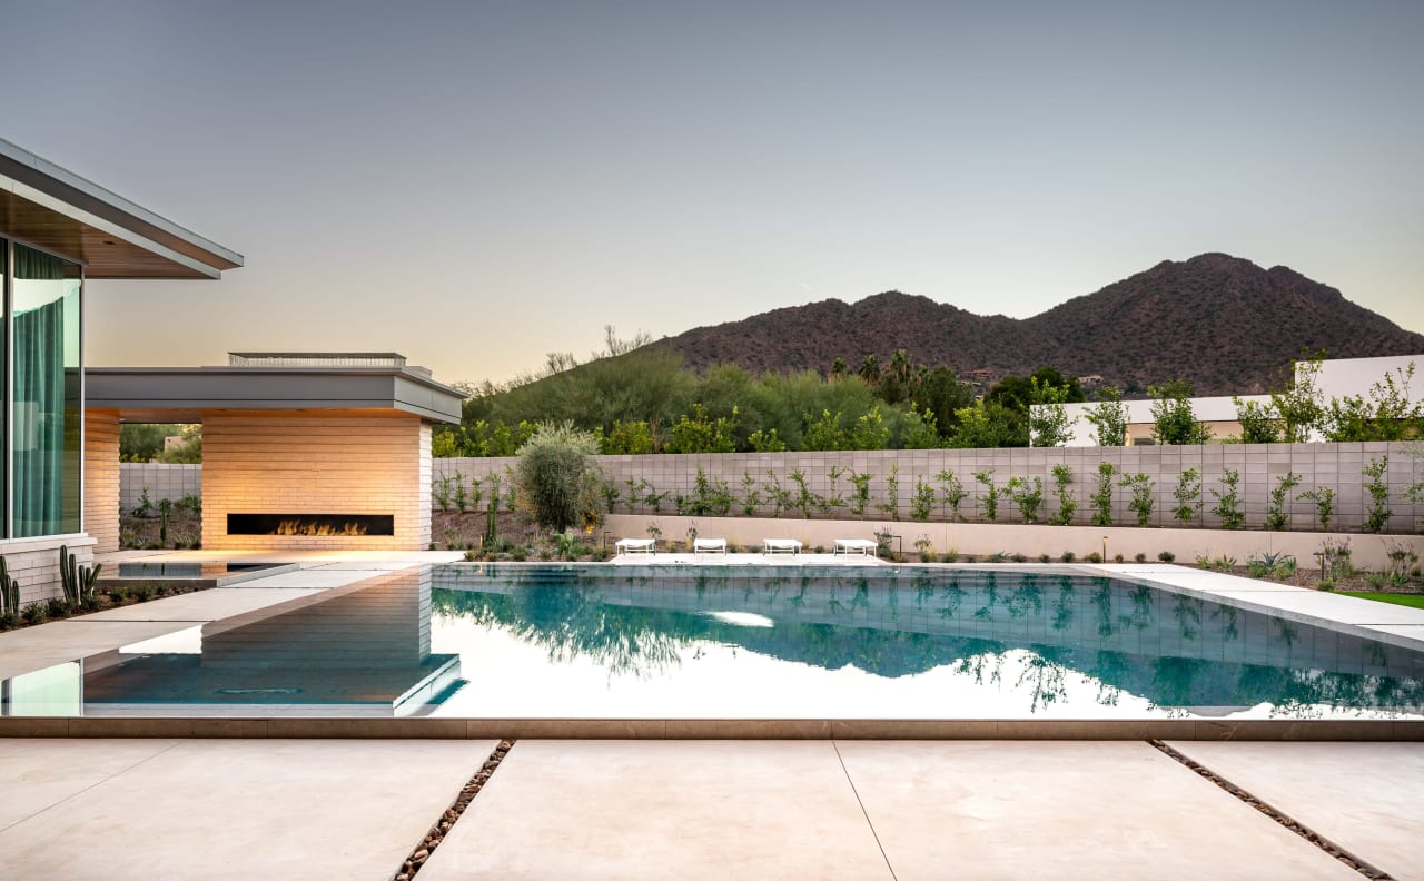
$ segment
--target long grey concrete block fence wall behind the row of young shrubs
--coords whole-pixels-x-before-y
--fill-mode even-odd
[[[1149,524],[1153,527],[1180,525],[1172,515],[1176,507],[1173,490],[1178,478],[1186,468],[1196,468],[1202,482],[1202,517],[1193,525],[1216,528],[1220,518],[1210,512],[1216,504],[1212,490],[1225,492],[1220,480],[1227,468],[1240,474],[1236,491],[1240,498],[1240,510],[1246,515],[1246,529],[1260,529],[1266,519],[1266,505],[1270,501],[1270,491],[1287,471],[1300,477],[1300,485],[1290,491],[1286,511],[1292,518],[1292,529],[1312,531],[1319,527],[1316,522],[1316,507],[1310,501],[1297,501],[1302,492],[1316,488],[1334,491],[1334,514],[1331,531],[1356,532],[1360,531],[1370,504],[1368,492],[1364,488],[1366,477],[1363,468],[1380,457],[1388,457],[1386,481],[1390,487],[1390,508],[1393,511],[1388,522],[1388,532],[1411,534],[1418,532],[1420,521],[1424,519],[1424,504],[1410,502],[1404,494],[1415,482],[1424,481],[1424,458],[1417,455],[1415,444],[1408,443],[1353,443],[1353,444],[1212,444],[1205,447],[1062,447],[1062,448],[998,448],[998,450],[874,450],[854,453],[722,453],[722,454],[689,454],[689,455],[598,455],[595,460],[621,492],[621,498],[614,505],[615,514],[676,514],[674,497],[695,495],[696,477],[701,468],[709,481],[725,481],[728,491],[736,500],[745,495],[743,478],[750,475],[756,484],[755,490],[762,494],[762,504],[758,514],[769,517],[772,507],[768,502],[766,488],[769,485],[768,473],[773,474],[780,485],[792,492],[797,487],[790,478],[792,471],[800,470],[806,477],[810,492],[844,497],[849,502],[854,494],[850,484],[850,474],[870,474],[870,501],[863,519],[890,521],[891,514],[883,510],[889,505],[889,478],[894,474],[899,481],[899,519],[911,521],[910,505],[914,498],[917,481],[924,481],[936,491],[936,502],[931,521],[950,519],[947,505],[943,498],[944,484],[938,481],[940,471],[953,471],[964,485],[967,495],[960,504],[960,514],[965,521],[983,521],[981,500],[984,487],[974,480],[975,471],[993,470],[994,484],[1004,487],[1011,477],[1022,477],[1032,481],[1040,478],[1044,482],[1044,502],[1040,517],[1045,521],[1058,511],[1058,500],[1054,495],[1052,467],[1068,465],[1072,470],[1072,484],[1069,490],[1077,497],[1078,510],[1072,525],[1089,525],[1094,515],[1091,495],[1096,488],[1098,464],[1111,463],[1115,468],[1126,474],[1146,474],[1153,481],[1153,510]],[[453,480],[456,474],[468,487],[473,478],[484,481],[490,474],[500,474],[507,480],[513,473],[517,458],[436,458],[431,464],[433,481]],[[319,467],[319,465],[316,465]],[[830,473],[840,470],[843,474],[832,487]],[[174,471],[182,470],[182,471]],[[202,492],[201,465],[122,465],[122,505],[134,508],[138,505],[142,487],[150,487],[150,498],[157,502],[159,498],[178,500],[185,494]],[[666,492],[666,498],[659,511],[642,501],[629,504],[628,481],[638,485],[649,485],[652,492]],[[488,500],[486,487],[477,505],[484,508]],[[1132,491],[1114,484],[1112,490],[1112,522],[1118,527],[1136,524],[1136,514],[1128,508],[1132,501]],[[431,502],[434,504],[434,502]],[[733,515],[740,515],[742,504],[733,502]],[[783,514],[789,518],[800,518],[800,511],[792,510]],[[830,512],[833,518],[850,518],[849,508],[840,507]],[[1018,508],[1007,498],[998,502],[998,519],[1001,524],[1021,522]]]

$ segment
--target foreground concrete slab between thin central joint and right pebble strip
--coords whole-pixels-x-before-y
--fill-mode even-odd
[[[1360,877],[1146,743],[836,746],[899,881]]]

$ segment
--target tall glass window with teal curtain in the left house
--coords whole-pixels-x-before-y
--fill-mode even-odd
[[[13,249],[14,537],[80,531],[80,266]]]

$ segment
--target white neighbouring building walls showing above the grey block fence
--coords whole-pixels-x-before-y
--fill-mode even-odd
[[[1344,399],[1360,396],[1368,400],[1370,387],[1381,381],[1386,374],[1396,371],[1408,373],[1410,364],[1415,364],[1414,376],[1410,379],[1407,391],[1410,400],[1424,400],[1424,354],[1404,354],[1390,357],[1349,357],[1320,363],[1320,373],[1316,374],[1316,387],[1320,389],[1326,401],[1333,397]],[[1299,363],[1296,366],[1299,376]],[[1223,397],[1193,397],[1192,411],[1199,423],[1206,423],[1212,436],[1225,440],[1240,434],[1240,423],[1236,421],[1236,403],[1232,396]],[[1269,394],[1242,394],[1243,401],[1270,403]],[[1151,400],[1122,401],[1128,408],[1128,444],[1134,445],[1143,438],[1152,437],[1152,403]],[[1096,428],[1088,421],[1087,410],[1095,407],[1089,404],[1065,404],[1068,411],[1069,438],[1067,447],[1095,447]],[[1319,440],[1319,438],[1316,438]]]

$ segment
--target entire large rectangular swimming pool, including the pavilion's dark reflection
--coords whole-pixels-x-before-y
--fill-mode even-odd
[[[1424,719],[1424,653],[1071,566],[426,566],[75,665],[54,714]]]

